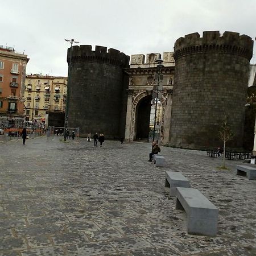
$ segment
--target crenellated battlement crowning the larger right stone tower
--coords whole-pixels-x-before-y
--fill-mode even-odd
[[[201,38],[196,32],[176,40],[174,59],[195,53],[210,52],[229,53],[250,60],[253,56],[253,40],[250,36],[240,35],[237,32],[226,31],[221,36],[220,31],[204,31]]]

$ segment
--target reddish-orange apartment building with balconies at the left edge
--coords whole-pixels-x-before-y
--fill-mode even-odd
[[[23,122],[24,87],[27,55],[14,47],[0,46],[0,121]]]

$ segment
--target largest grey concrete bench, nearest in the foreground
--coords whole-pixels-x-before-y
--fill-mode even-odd
[[[176,189],[176,209],[187,213],[187,232],[200,236],[217,235],[218,209],[196,188]]]

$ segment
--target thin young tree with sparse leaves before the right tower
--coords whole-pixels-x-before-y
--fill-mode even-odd
[[[234,137],[234,134],[228,122],[227,115],[224,115],[224,120],[221,123],[220,130],[218,131],[218,137],[223,142],[223,161],[222,161],[221,168],[226,169],[226,166],[225,166],[226,142],[232,140]]]

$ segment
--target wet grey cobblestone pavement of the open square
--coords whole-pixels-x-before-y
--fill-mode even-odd
[[[224,171],[206,152],[162,147],[160,168],[150,143],[59,138],[0,142],[0,255],[256,255],[256,180],[236,176],[242,160]],[[216,238],[186,233],[166,170],[218,207]]]

